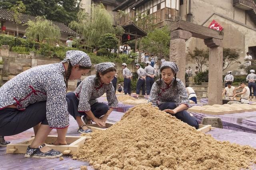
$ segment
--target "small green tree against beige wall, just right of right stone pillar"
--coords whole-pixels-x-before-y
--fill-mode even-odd
[[[237,49],[223,48],[223,71],[228,69],[234,63],[241,64],[237,61],[239,58],[239,53]]]

